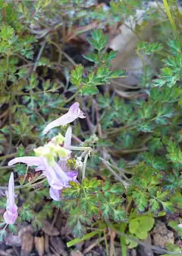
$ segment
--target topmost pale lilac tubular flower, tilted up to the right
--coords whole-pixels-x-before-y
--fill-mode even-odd
[[[49,132],[52,128],[55,128],[57,126],[66,125],[67,123],[71,123],[74,120],[76,120],[78,117],[84,118],[83,112],[79,108],[79,103],[75,102],[71,105],[70,109],[66,114],[59,117],[58,119],[52,121],[47,126],[45,126],[45,129],[43,130],[43,135]]]

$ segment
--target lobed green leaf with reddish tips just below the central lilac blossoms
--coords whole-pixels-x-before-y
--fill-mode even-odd
[[[125,221],[126,213],[122,207],[124,187],[121,184],[109,184],[93,178],[83,179],[82,184],[71,181],[71,187],[62,190],[63,209],[69,212],[68,225],[73,227],[74,235],[82,237],[86,232],[83,224],[90,225],[90,219],[100,218],[105,221],[114,219]]]

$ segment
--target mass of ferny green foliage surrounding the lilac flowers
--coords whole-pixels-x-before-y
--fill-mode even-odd
[[[80,146],[93,148],[92,158],[86,163],[86,178],[81,180],[79,170],[79,183],[71,181],[70,187],[61,191],[61,201],[51,202],[49,185],[42,178],[39,180],[40,173],[32,167],[16,165],[15,186],[22,185],[15,190],[17,222],[30,222],[39,230],[42,219],[52,219],[58,208],[69,213],[67,226],[76,237],[85,238],[87,227],[94,225],[105,232],[109,223],[115,223],[118,230],[122,224],[122,232],[143,240],[154,225],[153,214],[156,218],[176,214],[182,207],[181,39],[172,39],[171,21],[162,8],[149,8],[142,0],[111,1],[109,5],[107,9],[83,0],[1,1],[2,186],[7,186],[10,170],[6,164],[16,149],[17,157],[33,155],[33,148],[44,144],[45,125],[67,112],[73,101],[79,101],[87,115],[74,125],[74,139],[83,140]],[[181,14],[176,5],[170,8],[178,37]],[[138,9],[143,11],[141,18]],[[136,52],[143,60],[141,88],[137,92],[128,90],[128,98],[99,86],[127,75],[124,69],[111,68],[118,53],[108,52],[108,36],[112,30],[117,34],[115,27],[121,21],[127,27],[130,24],[128,28],[137,35],[140,42]],[[154,33],[149,42],[145,37],[148,25]],[[85,37],[90,47],[85,50],[87,44],[83,43],[84,60],[79,64],[67,48],[75,42],[82,48]],[[157,66],[146,66],[143,55],[156,61]],[[46,136],[52,139],[65,129],[58,127]],[[76,168],[84,154],[72,152],[68,166]],[[108,168],[103,165],[103,158],[109,163]],[[0,206],[5,209],[3,196]],[[180,222],[177,219],[168,222],[168,226],[181,237],[177,226]],[[11,232],[16,228],[16,223],[8,227]],[[1,239],[5,235],[2,229]],[[124,241],[128,248],[137,246],[130,238]],[[168,249],[180,251],[175,245]]]

